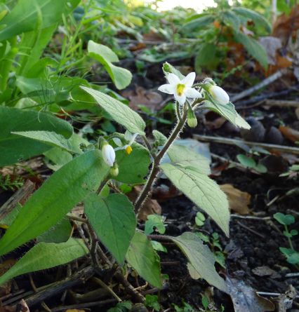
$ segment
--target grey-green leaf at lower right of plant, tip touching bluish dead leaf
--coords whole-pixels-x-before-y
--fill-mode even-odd
[[[201,278],[209,284],[227,292],[225,281],[215,271],[215,258],[208,246],[204,245],[196,234],[185,232],[178,237],[169,237],[180,247],[190,264],[197,271]]]

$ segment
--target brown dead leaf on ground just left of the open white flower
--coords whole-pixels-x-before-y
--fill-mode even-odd
[[[161,94],[145,90],[140,86],[137,86],[135,90],[126,90],[121,93],[123,97],[126,97],[130,101],[131,109],[138,109],[138,105],[145,105],[150,109],[157,111],[160,109],[159,104],[163,102]]]

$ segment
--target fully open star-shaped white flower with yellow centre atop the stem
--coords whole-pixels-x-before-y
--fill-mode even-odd
[[[187,74],[182,80],[180,80],[175,74],[168,74],[166,79],[169,83],[160,86],[158,90],[164,93],[173,94],[175,100],[177,100],[180,105],[184,105],[187,98],[196,99],[201,97],[201,93],[192,88],[195,77],[196,74],[194,72]]]

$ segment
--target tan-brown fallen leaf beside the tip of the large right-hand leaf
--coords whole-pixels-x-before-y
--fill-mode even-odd
[[[232,184],[222,184],[220,189],[227,195],[231,210],[240,215],[248,215],[250,212],[248,205],[251,202],[251,194],[234,188]]]

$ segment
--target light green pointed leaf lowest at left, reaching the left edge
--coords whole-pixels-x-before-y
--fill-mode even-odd
[[[0,277],[0,285],[15,276],[66,264],[88,254],[83,240],[69,238],[66,243],[39,243]]]

